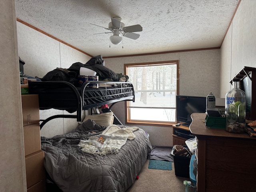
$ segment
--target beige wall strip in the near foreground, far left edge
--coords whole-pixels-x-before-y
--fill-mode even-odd
[[[26,191],[14,0],[0,1],[0,191]]]

